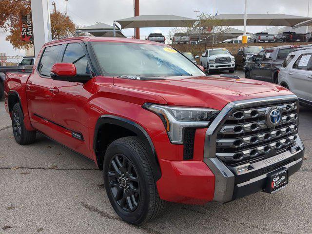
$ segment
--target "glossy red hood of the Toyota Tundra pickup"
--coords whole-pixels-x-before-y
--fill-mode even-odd
[[[168,105],[209,107],[221,110],[236,100],[292,94],[277,84],[220,76],[166,77],[159,80],[114,78],[114,85],[158,95]]]

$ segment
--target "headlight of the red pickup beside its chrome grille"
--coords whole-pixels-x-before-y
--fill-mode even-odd
[[[145,103],[142,107],[160,117],[171,142],[175,144],[183,144],[185,128],[207,127],[219,113],[218,110],[210,108],[163,106],[151,103]]]

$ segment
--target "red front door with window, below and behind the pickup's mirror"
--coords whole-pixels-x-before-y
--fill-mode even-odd
[[[68,41],[61,62],[73,63],[77,74],[90,74],[86,47],[80,40]],[[54,139],[80,154],[89,156],[88,100],[92,81],[86,83],[54,80],[51,97]]]

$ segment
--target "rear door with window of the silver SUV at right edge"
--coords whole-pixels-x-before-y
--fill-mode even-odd
[[[292,79],[292,92],[298,98],[312,101],[312,53],[302,54],[294,62],[289,76]]]

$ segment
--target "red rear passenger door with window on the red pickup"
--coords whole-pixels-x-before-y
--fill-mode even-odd
[[[52,119],[50,71],[57,61],[62,45],[54,45],[43,49],[37,67],[26,83],[28,111],[32,125],[37,130],[50,135],[49,122]],[[50,136],[49,136],[50,137]]]

